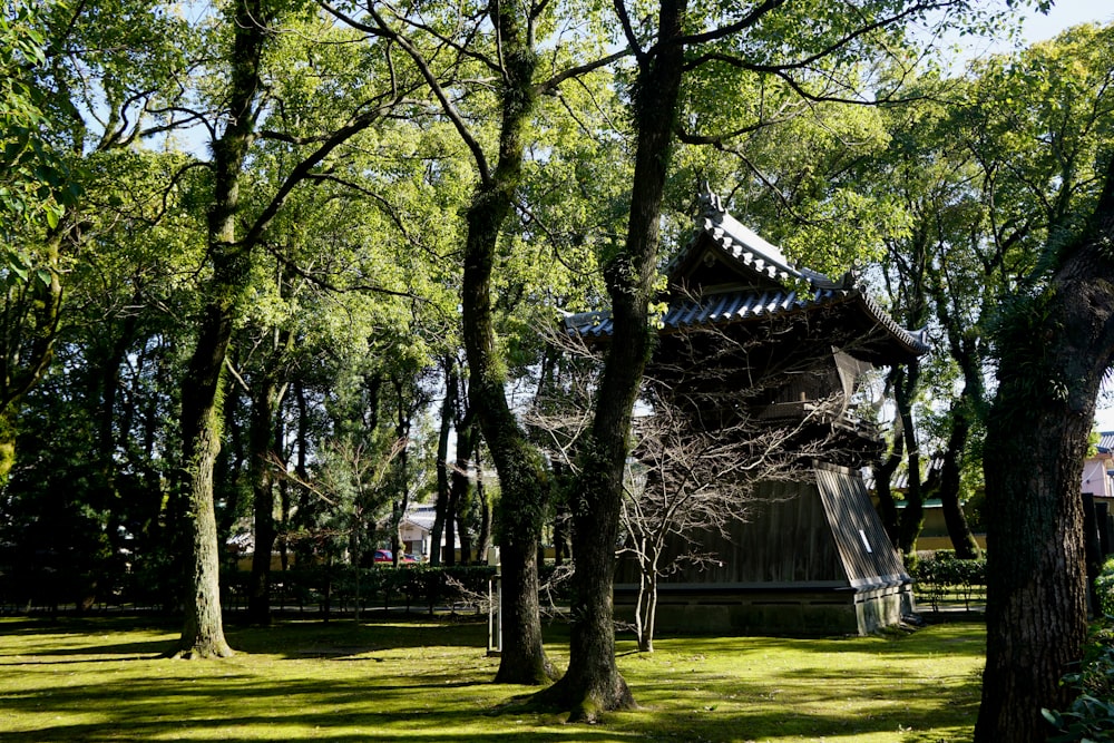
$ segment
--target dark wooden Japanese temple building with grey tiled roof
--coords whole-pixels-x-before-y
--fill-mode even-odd
[[[924,334],[893,322],[852,274],[833,281],[794,266],[714,194],[702,207],[667,266],[648,391],[693,401],[694,424],[781,427],[795,439],[786,446],[809,454],[791,477],[754,486],[745,520],[702,535],[712,567],[662,577],[657,628],[818,635],[897,624],[913,609],[911,580],[860,476],[883,444],[851,397],[864,371],[925,353]],[[566,327],[604,349],[612,333],[606,313],[570,316]],[[620,564],[620,616],[637,575]]]

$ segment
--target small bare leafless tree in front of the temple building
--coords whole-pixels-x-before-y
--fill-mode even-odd
[[[801,368],[794,373],[820,372]],[[692,378],[686,388],[688,383]],[[626,539],[618,555],[633,557],[638,566],[634,625],[644,653],[654,652],[661,578],[686,566],[716,563],[719,557],[701,540],[712,532],[726,537],[733,521],[747,519],[756,505],[755,483],[793,480],[814,459],[838,456],[836,436],[813,434],[814,426],[839,418],[836,401],[817,401],[813,410],[791,422],[750,416],[721,422],[694,414],[694,408],[705,413],[724,405],[745,408],[771,387],[772,380],[756,380],[736,394],[685,392],[683,400],[676,393],[656,394],[653,412],[635,420],[633,471],[619,518]]]

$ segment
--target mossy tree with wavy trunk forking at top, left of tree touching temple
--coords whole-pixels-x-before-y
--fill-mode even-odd
[[[538,97],[556,94],[564,81],[587,75],[619,55],[576,66],[569,55],[582,45],[566,41],[555,47],[559,53],[553,58],[554,69],[543,72],[536,35],[550,28],[555,13],[555,7],[546,2],[479,3],[465,14],[473,25],[466,28],[457,28],[453,10],[442,33],[431,33],[438,28],[420,13],[387,11],[369,8],[365,19],[355,19],[332,10],[354,28],[390,39],[409,55],[472,158],[477,183],[465,212],[461,335],[468,358],[469,408],[491,452],[501,493],[498,534],[506,609],[496,680],[541,684],[555,675],[541,643],[537,574],[549,477],[540,452],[507,401],[508,372],[497,339],[494,276],[504,231],[524,180],[528,127]],[[450,56],[452,65],[447,70],[434,66],[434,61],[443,66],[434,55]],[[476,60],[480,70],[498,81],[486,111],[497,127],[494,158],[480,130],[459,108],[461,101],[452,96],[458,56]]]

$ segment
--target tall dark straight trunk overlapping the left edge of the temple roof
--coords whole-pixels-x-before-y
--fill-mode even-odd
[[[662,0],[658,8],[657,43],[639,56],[635,86],[637,145],[627,237],[605,267],[614,332],[570,498],[576,560],[571,613],[577,620],[569,636],[568,671],[538,696],[569,710],[573,721],[634,706],[615,665],[615,545],[632,411],[652,348],[648,307],[684,67],[681,38],[687,0]]]

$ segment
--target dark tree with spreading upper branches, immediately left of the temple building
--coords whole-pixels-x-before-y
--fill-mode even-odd
[[[662,0],[655,23],[646,29],[636,26],[625,3],[615,3],[637,61],[631,100],[635,173],[625,241],[603,262],[615,331],[573,502],[577,569],[569,668],[560,682],[538,695],[539,702],[571,710],[573,720],[633,704],[614,659],[613,546],[618,536],[631,411],[652,348],[648,306],[675,131],[683,129],[682,138],[693,144],[722,144],[770,124],[771,111],[761,105],[740,111],[734,120],[730,115],[725,118],[725,111],[735,111],[713,94],[727,79],[737,81],[744,76],[771,87],[783,84],[784,90],[811,101],[885,99],[892,88],[858,92],[864,82],[862,61],[879,59],[886,41],[892,45],[890,49],[901,49],[907,23],[924,21],[945,8],[961,11],[966,7],[962,2],[883,1],[858,3],[853,11],[844,11],[823,3],[770,0],[726,17],[704,18],[686,0]],[[885,51],[881,57],[898,67],[903,61]],[[682,107],[683,81],[691,91],[687,109]],[[683,110],[686,117],[681,116]],[[704,121],[719,125],[717,133],[700,135],[690,126]]]

